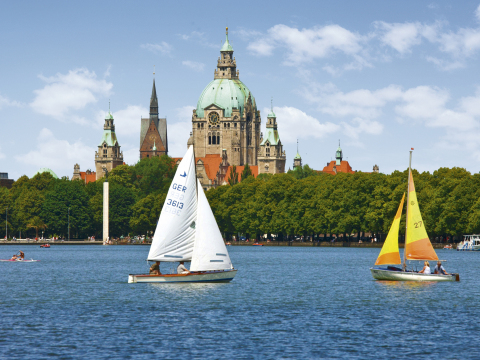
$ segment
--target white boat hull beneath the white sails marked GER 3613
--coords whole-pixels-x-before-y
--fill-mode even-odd
[[[231,281],[237,270],[219,270],[195,272],[190,274],[165,275],[128,275],[128,283],[189,283],[189,282],[228,282]]]

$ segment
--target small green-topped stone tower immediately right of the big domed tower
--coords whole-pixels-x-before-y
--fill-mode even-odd
[[[273,112],[267,116],[265,137],[260,140],[258,152],[258,172],[261,174],[279,174],[285,172],[285,151],[277,129],[277,117]]]

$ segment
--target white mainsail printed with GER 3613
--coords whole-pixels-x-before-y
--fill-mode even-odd
[[[197,189],[193,146],[187,150],[168,190],[148,260],[190,261],[195,241]]]

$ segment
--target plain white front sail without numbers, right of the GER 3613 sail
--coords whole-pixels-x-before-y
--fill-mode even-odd
[[[190,271],[233,269],[227,247],[200,182],[197,187],[197,231]]]

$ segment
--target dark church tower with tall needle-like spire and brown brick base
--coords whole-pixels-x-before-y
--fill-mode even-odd
[[[153,73],[155,75],[155,72]],[[153,147],[156,152],[153,154]],[[158,98],[153,78],[150,97],[150,116],[141,119],[140,125],[140,160],[145,157],[168,155],[167,119],[158,116]]]

